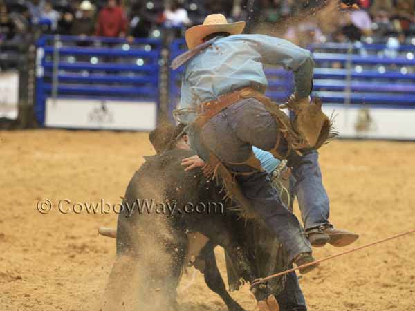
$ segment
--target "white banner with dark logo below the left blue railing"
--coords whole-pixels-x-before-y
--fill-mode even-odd
[[[45,126],[151,131],[156,117],[156,102],[48,98]]]

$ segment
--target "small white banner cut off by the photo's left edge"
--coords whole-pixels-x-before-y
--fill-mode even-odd
[[[6,71],[0,73],[0,117],[17,119],[19,104],[19,73]]]

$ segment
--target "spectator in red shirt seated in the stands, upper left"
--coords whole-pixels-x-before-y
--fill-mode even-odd
[[[98,15],[95,35],[102,37],[125,37],[127,18],[116,0],[108,0]]]

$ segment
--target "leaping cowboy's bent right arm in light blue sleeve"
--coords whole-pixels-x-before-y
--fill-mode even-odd
[[[313,88],[314,62],[311,52],[290,41],[267,35],[246,35],[251,48],[257,50],[264,64],[284,66],[293,70],[295,76],[295,97],[308,97]]]

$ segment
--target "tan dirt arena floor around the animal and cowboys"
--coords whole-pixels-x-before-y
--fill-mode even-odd
[[[115,226],[117,215],[63,214],[55,205],[120,202],[142,156],[154,153],[147,134],[0,131],[0,146],[0,310],[95,310],[115,258],[114,240],[97,228]],[[404,142],[336,141],[322,149],[331,220],[361,234],[356,246],[414,229],[414,155],[415,143]],[[48,214],[37,210],[44,199],[54,205]],[[315,256],[339,251],[328,246]],[[322,263],[300,282],[309,310],[414,311],[415,236]],[[255,309],[247,287],[232,295]],[[179,298],[182,311],[225,310],[200,274]]]

